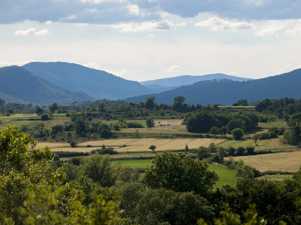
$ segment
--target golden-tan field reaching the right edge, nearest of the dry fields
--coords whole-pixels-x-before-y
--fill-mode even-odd
[[[296,172],[301,166],[301,151],[234,157],[235,161],[240,159],[260,172],[268,170]]]

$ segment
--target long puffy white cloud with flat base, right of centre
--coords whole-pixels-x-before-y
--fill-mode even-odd
[[[249,22],[231,22],[218,17],[212,17],[207,20],[197,22],[195,26],[209,27],[209,31],[220,30],[240,30],[240,29],[254,29],[255,25]]]

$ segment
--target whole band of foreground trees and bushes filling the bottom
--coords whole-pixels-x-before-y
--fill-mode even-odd
[[[62,164],[36,144],[16,127],[0,131],[2,224],[301,223],[300,171],[284,182],[258,180],[253,168],[230,159],[224,164],[236,168],[235,186],[214,189],[216,172],[183,153],[132,169],[97,153]]]

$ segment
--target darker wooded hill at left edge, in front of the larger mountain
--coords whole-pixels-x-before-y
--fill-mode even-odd
[[[0,68],[0,90],[7,96],[41,105],[93,100],[91,96],[83,92],[59,87],[18,66]]]

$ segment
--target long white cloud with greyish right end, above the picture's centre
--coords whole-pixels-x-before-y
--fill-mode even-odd
[[[115,24],[112,27],[119,29],[119,31],[121,32],[142,32],[175,29],[175,25],[168,20],[162,20],[159,22],[122,23]]]

